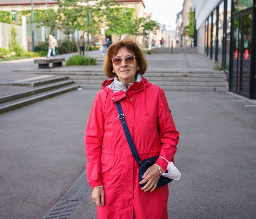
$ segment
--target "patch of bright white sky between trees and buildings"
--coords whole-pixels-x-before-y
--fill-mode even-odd
[[[176,14],[182,10],[183,0],[143,0],[145,12],[152,13],[151,19],[165,24],[166,30],[175,30]]]

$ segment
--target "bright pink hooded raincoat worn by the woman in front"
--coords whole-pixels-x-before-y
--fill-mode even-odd
[[[139,185],[138,164],[130,151],[115,102],[123,113],[140,160],[160,155],[174,161],[179,133],[161,88],[142,77],[127,92],[114,93],[102,84],[96,94],[85,132],[86,174],[91,188],[103,185],[105,206],[98,219],[166,219],[168,185],[144,192]],[[164,171],[167,162],[158,158]]]

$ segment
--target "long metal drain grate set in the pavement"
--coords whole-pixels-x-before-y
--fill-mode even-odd
[[[44,219],[70,219],[90,191],[91,188],[84,172]]]

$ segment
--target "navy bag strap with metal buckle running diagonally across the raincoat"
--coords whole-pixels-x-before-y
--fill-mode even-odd
[[[122,106],[121,106],[119,100],[116,102],[116,106],[117,106],[117,111],[118,111],[118,114],[119,114],[118,115],[118,119],[121,121],[121,124],[123,126],[124,134],[126,135],[126,139],[128,141],[130,150],[131,150],[135,160],[140,164],[139,154],[138,154],[138,152],[137,152],[137,150],[135,148],[135,145],[133,143],[133,139],[132,139],[132,136],[130,135],[129,129],[127,127],[126,120],[124,119],[124,114],[123,114]]]

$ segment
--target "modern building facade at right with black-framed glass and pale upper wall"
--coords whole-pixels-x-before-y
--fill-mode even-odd
[[[225,70],[229,90],[256,99],[256,0],[193,0],[198,53]]]

